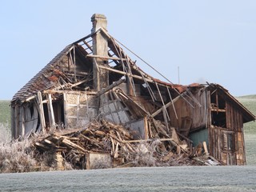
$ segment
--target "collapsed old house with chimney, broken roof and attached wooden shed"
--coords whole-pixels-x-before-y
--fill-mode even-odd
[[[94,14],[91,21],[89,35],[66,46],[14,94],[12,138],[66,130],[48,134],[36,146],[54,148],[58,155],[79,150],[88,169],[95,157],[118,162],[121,146],[134,151],[127,143],[154,139],[175,153],[191,155],[202,147],[223,165],[246,165],[243,124],[254,121],[254,114],[218,84],[182,86],[151,77],[107,32],[104,15]],[[105,126],[99,127],[106,128],[107,121],[119,128],[86,128],[101,119]],[[113,149],[99,150],[106,135]]]

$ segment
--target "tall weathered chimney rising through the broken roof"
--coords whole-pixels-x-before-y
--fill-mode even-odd
[[[91,33],[96,32],[100,28],[106,30],[106,16],[104,14],[93,14],[91,17],[91,22],[93,23],[93,28]],[[107,38],[101,31],[98,31],[92,36],[93,38],[93,54],[101,57],[108,57],[108,46]],[[94,58],[93,60],[93,73],[94,73],[94,89],[102,90],[109,86],[109,73],[108,70],[102,70],[98,66],[106,66],[108,64],[107,59]]]

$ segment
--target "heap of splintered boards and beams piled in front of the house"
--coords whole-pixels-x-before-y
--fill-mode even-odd
[[[166,130],[154,121],[155,129],[161,138],[134,140],[132,134],[124,126],[102,120],[90,122],[84,129],[64,130],[54,132],[34,142],[38,150],[53,151],[62,154],[75,169],[90,169],[91,167],[124,167],[124,166],[180,166],[206,165],[186,141],[178,137],[174,128],[170,128],[172,138],[167,138]],[[159,129],[160,128],[160,129]],[[198,149],[199,146],[196,148]],[[90,154],[100,156],[101,162],[89,159]],[[104,156],[104,155],[105,156]],[[110,155],[106,158],[106,154]],[[193,157],[192,157],[193,156]],[[102,158],[103,157],[103,158]],[[86,159],[87,158],[87,159]],[[104,165],[107,159],[107,166]],[[58,157],[59,159],[59,157]],[[102,160],[103,159],[103,160]],[[95,163],[97,166],[95,166]],[[100,164],[100,165],[99,165]],[[216,163],[218,164],[218,163]],[[58,161],[58,166],[59,161]]]

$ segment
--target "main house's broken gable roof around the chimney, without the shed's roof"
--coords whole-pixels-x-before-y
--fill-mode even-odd
[[[98,55],[92,54],[93,50],[91,37],[95,33],[104,33],[108,38],[108,58],[102,58]],[[82,59],[82,61],[86,62],[88,65],[91,65],[90,63],[92,62],[92,59],[96,57],[108,59],[110,62],[107,69],[105,67],[106,70],[118,73],[121,76],[128,73],[131,77],[137,79],[137,81],[140,82],[153,82],[158,83],[162,86],[169,86],[170,88],[178,90],[179,93],[182,93],[187,88],[187,86],[175,85],[171,82],[162,82],[161,80],[153,78],[149,74],[146,74],[135,64],[135,62],[133,62],[128,57],[128,55],[123,51],[122,47],[118,45],[115,39],[110,36],[110,34],[106,32],[106,30],[99,29],[96,32],[89,34],[86,37],[81,38],[78,41],[66,46],[65,49],[57,54],[55,58],[52,59],[44,68],[42,68],[42,70],[40,70],[38,74],[34,76],[34,78],[31,78],[30,81],[22,87],[22,89],[18,90],[18,92],[14,94],[11,102],[26,102],[26,100],[29,100],[30,97],[34,97],[34,95],[37,94],[38,91],[49,89],[56,90],[58,86],[61,86],[61,83],[57,81],[57,78],[63,75],[62,71],[58,70],[59,63],[62,62],[62,59],[66,56],[74,54],[76,56],[78,55],[77,58],[80,57],[80,59]],[[74,63],[72,64],[74,65]],[[192,86],[195,86],[195,84],[193,84]]]

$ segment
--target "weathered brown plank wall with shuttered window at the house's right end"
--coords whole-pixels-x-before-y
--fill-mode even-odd
[[[209,149],[214,158],[226,165],[245,165],[245,146],[242,130],[242,114],[230,102],[226,102],[226,126],[210,126]]]

